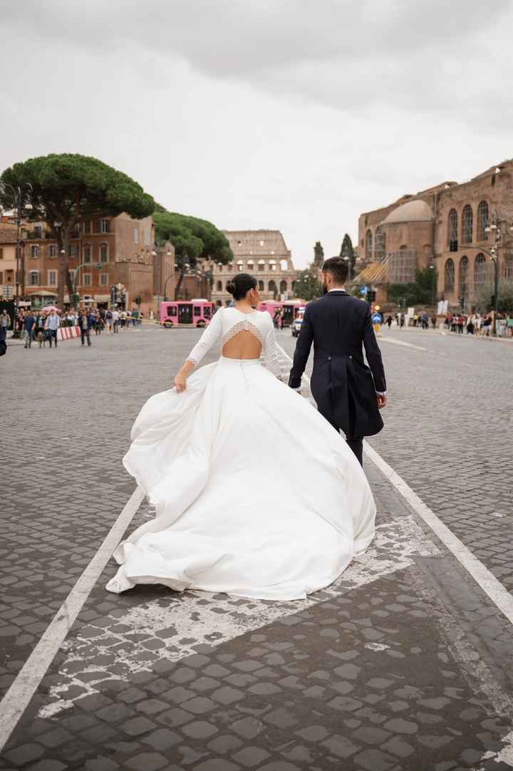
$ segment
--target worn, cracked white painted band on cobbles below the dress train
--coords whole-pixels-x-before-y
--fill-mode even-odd
[[[106,679],[128,684],[135,672],[151,668],[157,658],[179,661],[196,653],[198,645],[221,645],[331,597],[403,571],[416,556],[437,554],[439,550],[427,540],[413,517],[398,517],[379,524],[366,554],[357,557],[331,586],[305,600],[242,600],[229,594],[185,591],[133,605],[121,617],[107,616],[107,625],[105,619],[98,627],[91,622],[86,635],[82,637],[78,631],[76,637],[62,645],[67,657],[59,668],[61,681],[50,688],[52,700],[39,710],[39,717],[53,717],[79,704],[80,699],[98,692]],[[162,647],[148,649],[148,641],[160,641]],[[78,694],[73,699],[68,698],[70,689]]]

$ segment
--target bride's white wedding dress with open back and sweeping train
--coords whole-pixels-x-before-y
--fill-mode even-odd
[[[374,536],[376,508],[356,457],[306,399],[273,374],[267,312],[221,308],[194,346],[199,364],[238,332],[259,359],[197,369],[187,389],[152,396],[123,463],[156,516],[114,551],[106,584],[164,584],[244,598],[293,600],[326,587]]]

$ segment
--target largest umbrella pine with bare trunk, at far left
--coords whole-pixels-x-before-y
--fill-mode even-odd
[[[29,204],[30,218],[46,222],[59,244],[58,303],[62,305],[64,284],[69,295],[73,287],[69,279],[67,244],[73,227],[93,214],[116,217],[126,212],[134,219],[153,214],[154,199],[135,180],[107,166],[97,158],[78,153],[50,155],[15,163],[0,177],[4,185],[26,187],[24,204]],[[8,207],[10,197],[2,194],[0,203]],[[65,254],[62,255],[62,251]]]

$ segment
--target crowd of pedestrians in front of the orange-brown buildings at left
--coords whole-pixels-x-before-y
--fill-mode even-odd
[[[116,335],[120,329],[129,329],[141,324],[143,313],[133,311],[118,311],[116,308],[79,308],[78,310],[59,311],[57,308],[47,308],[43,311],[32,311],[22,308],[15,322],[15,329],[22,337],[25,348],[32,348],[35,343],[39,348],[57,347],[57,330],[61,327],[78,327],[82,345],[91,345],[91,333],[101,335]],[[0,315],[0,325],[5,332],[11,325],[11,319],[6,311]]]

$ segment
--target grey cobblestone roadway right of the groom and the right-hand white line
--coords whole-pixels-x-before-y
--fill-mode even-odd
[[[370,443],[513,591],[513,345],[413,328],[380,345],[390,403]]]

